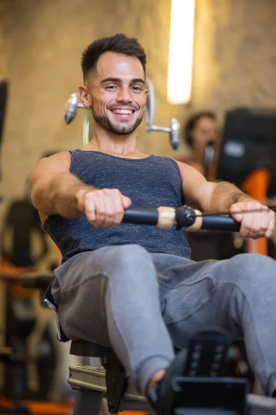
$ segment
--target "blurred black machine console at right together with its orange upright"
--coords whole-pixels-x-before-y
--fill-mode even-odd
[[[266,204],[276,195],[276,111],[228,111],[217,162],[217,178],[230,181]],[[268,254],[265,238],[248,240],[247,252]]]

